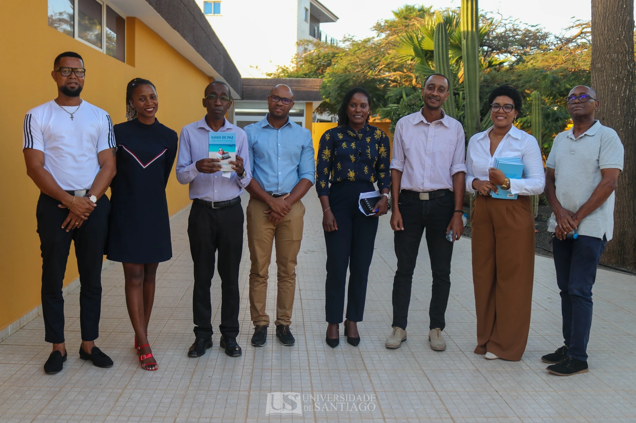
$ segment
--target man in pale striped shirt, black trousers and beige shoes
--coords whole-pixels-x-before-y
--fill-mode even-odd
[[[413,270],[426,230],[432,272],[429,341],[436,351],[446,349],[445,327],[450,293],[453,242],[464,232],[462,206],[466,178],[466,138],[462,124],[441,108],[448,98],[448,79],[429,76],[422,87],[424,107],[397,122],[391,160],[391,228],[397,271],[393,280],[393,330],[387,348],[406,340]],[[446,234],[453,231],[449,242]]]

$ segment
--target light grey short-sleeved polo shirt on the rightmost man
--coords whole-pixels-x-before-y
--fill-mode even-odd
[[[614,129],[598,120],[574,138],[574,129],[558,134],[546,162],[555,169],[556,199],[571,212],[577,212],[590,199],[600,183],[601,169],[623,171],[623,143]],[[584,218],[576,230],[579,235],[612,239],[614,233],[614,193]]]

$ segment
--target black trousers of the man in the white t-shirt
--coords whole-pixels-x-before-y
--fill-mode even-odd
[[[75,244],[79,271],[79,327],[83,341],[95,341],[99,336],[99,316],[102,306],[102,262],[108,233],[111,202],[102,195],[97,207],[79,228],[62,228],[68,209],[60,209],[55,198],[40,194],[36,218],[42,252],[42,314],[45,341],[64,342],[64,297],[62,283],[66,262]]]

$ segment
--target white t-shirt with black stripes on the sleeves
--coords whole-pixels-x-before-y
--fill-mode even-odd
[[[97,153],[116,146],[113,122],[86,100],[64,110],[54,100],[29,110],[23,147],[44,152],[44,168],[63,190],[88,190],[99,172]]]

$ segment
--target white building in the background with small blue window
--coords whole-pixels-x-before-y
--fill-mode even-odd
[[[320,24],[338,20],[318,0],[196,1],[244,78],[289,65],[302,39],[332,41]]]

